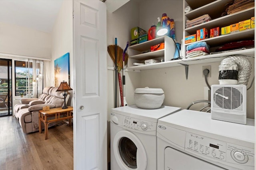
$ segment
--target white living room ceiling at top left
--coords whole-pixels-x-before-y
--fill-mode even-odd
[[[0,22],[51,33],[63,0],[0,0]]]

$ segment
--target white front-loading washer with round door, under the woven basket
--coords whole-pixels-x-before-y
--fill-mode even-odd
[[[157,121],[180,110],[170,106],[140,109],[136,105],[111,109],[111,170],[156,170]]]

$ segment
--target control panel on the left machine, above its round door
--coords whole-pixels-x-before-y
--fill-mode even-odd
[[[138,131],[155,131],[156,123],[150,121],[144,121],[140,119],[136,119],[133,117],[125,116],[122,122],[123,127],[128,127],[130,129],[138,130]]]

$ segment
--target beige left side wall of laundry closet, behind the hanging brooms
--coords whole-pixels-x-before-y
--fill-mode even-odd
[[[130,29],[139,25],[139,4],[128,2],[114,13],[107,11],[107,45],[114,45],[117,38],[117,45],[125,49],[127,41],[130,41]],[[108,66],[114,67],[114,61],[107,54]],[[108,113],[114,108],[114,70],[108,70]],[[140,85],[140,74],[137,72],[125,72],[126,76],[126,100],[128,105],[134,104],[133,92]],[[119,87],[118,87],[119,89]],[[119,95],[119,91],[118,91]],[[118,104],[120,106],[120,103]]]

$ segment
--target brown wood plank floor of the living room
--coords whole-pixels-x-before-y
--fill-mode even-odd
[[[23,133],[13,116],[0,117],[0,170],[72,170],[73,126],[50,127],[48,138]]]

